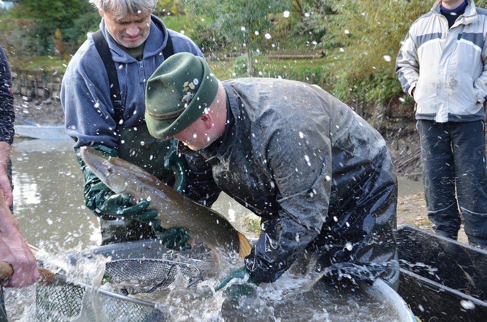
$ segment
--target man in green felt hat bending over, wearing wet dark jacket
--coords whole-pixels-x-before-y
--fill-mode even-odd
[[[246,78],[219,81],[206,61],[180,53],[147,81],[145,119],[155,138],[176,138],[192,171],[261,217],[260,237],[233,278],[273,282],[304,251],[326,280],[397,288],[397,180],[380,134],[316,85]],[[189,148],[189,149],[188,149]],[[211,206],[211,204],[209,204]]]

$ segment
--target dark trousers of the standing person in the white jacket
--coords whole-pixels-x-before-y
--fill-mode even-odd
[[[484,121],[418,120],[428,218],[435,233],[456,240],[461,215],[470,242],[487,245]]]

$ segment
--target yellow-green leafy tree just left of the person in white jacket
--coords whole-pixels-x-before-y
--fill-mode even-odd
[[[314,22],[308,25],[320,34],[319,46],[335,57],[327,66],[327,89],[350,104],[372,103],[368,116],[380,122],[379,116],[390,114],[391,104],[405,97],[395,74],[397,53],[409,26],[430,10],[433,1],[303,1]],[[320,10],[325,5],[329,10]]]

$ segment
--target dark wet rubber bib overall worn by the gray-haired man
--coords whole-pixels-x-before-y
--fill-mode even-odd
[[[162,29],[162,26],[159,26]],[[123,104],[120,92],[117,69],[112,60],[110,48],[101,30],[93,33],[95,46],[103,60],[110,81],[110,97],[115,110],[114,119],[117,124],[123,119]],[[162,50],[164,59],[174,54],[171,37],[168,33],[167,44]],[[146,171],[152,173],[163,182],[172,185],[174,173],[164,169],[164,156],[166,155],[170,142],[160,141],[149,134],[146,124],[137,127],[117,126],[116,132],[119,136],[117,152],[119,158],[132,162]],[[100,219],[102,233],[102,245],[114,242],[137,241],[152,238],[152,230],[148,224],[138,221],[125,220],[104,220]]]

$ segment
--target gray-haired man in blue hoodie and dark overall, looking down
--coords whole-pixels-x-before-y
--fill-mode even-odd
[[[75,141],[74,150],[89,145],[104,155],[135,163],[182,190],[184,178],[175,178],[170,169],[177,165],[184,176],[184,160],[170,149],[170,141],[157,141],[147,132],[145,86],[172,54],[204,56],[190,38],[167,29],[151,13],[157,0],[93,3],[102,16],[100,30],[88,34],[69,63],[61,87],[66,132]],[[156,213],[146,210],[148,201],[131,205],[127,195],[111,191],[79,156],[77,160],[85,179],[86,206],[100,217],[102,244],[157,237],[168,247],[190,247],[184,229],[159,229],[152,222]]]

